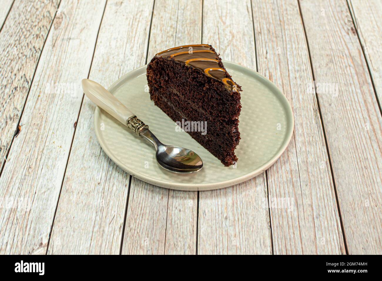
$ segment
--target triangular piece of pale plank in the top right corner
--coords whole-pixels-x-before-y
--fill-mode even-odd
[[[348,0],[379,103],[382,103],[382,2]]]

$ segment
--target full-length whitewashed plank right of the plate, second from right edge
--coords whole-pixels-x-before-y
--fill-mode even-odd
[[[382,118],[348,5],[300,5],[316,83],[334,86],[317,95],[345,242],[349,254],[381,254]]]

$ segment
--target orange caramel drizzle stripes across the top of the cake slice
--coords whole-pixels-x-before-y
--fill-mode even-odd
[[[164,51],[162,51],[162,52],[159,52],[159,53],[156,54],[156,56],[157,56],[157,55],[161,55],[161,54],[166,53],[166,52],[170,52],[170,51],[178,50],[178,49],[182,49],[182,48],[187,48],[187,47],[208,47],[208,48],[209,48],[210,46],[207,45],[207,44],[183,45],[183,46],[179,46],[179,47],[169,48],[169,49],[167,49],[167,50],[164,50]],[[211,50],[195,50],[195,51],[191,50],[191,53],[203,53],[203,52],[204,52],[204,53],[214,53],[214,52],[211,51]],[[174,54],[170,55],[170,58],[173,58],[173,57],[178,56],[178,55],[187,54],[187,53],[190,53],[190,52],[189,52],[189,51],[185,51],[185,52],[174,53]],[[189,63],[190,63],[191,61],[214,61],[214,62],[216,62],[216,63],[219,63],[218,60],[214,60],[214,59],[212,59],[212,58],[191,58],[190,60],[187,60],[187,61],[185,62],[185,64],[186,64],[186,65],[189,65]],[[209,76],[209,77],[211,77],[211,78],[214,78],[214,79],[216,79],[216,78],[215,78],[214,76],[212,76],[211,74],[209,74],[209,71],[211,71],[211,70],[220,70],[220,71],[224,71],[224,72],[226,72],[225,69],[220,68],[220,67],[212,67],[212,68],[206,68],[206,69],[204,69],[204,73],[205,73],[207,76]],[[232,85],[228,84],[227,81],[230,81],[230,82],[232,83]],[[223,78],[223,79],[222,79],[222,82],[223,82],[223,84],[225,84],[228,88],[231,88],[232,90],[234,89],[235,92],[239,92],[239,90],[237,89],[237,85],[236,85],[236,83],[233,82],[233,80],[231,80],[230,78]]]

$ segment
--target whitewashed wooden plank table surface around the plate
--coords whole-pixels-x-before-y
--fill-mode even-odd
[[[0,26],[1,254],[382,254],[382,1],[2,0]],[[236,186],[146,184],[80,81],[198,43],[282,90],[292,140]]]

